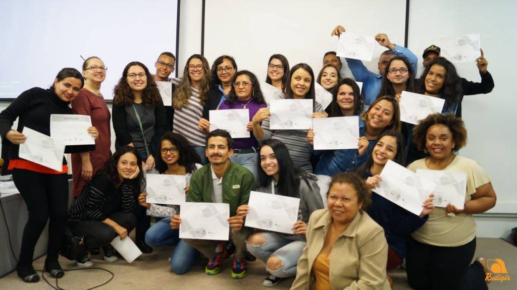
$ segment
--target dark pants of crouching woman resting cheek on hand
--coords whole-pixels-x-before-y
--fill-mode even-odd
[[[108,218],[128,230],[128,233],[134,229],[136,224],[133,213],[116,212]],[[70,230],[76,235],[84,236],[88,249],[109,245],[118,235],[108,224],[96,220],[74,222],[70,224]]]

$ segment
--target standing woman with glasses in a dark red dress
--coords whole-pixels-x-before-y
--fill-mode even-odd
[[[90,116],[92,125],[99,131],[94,151],[72,154],[72,194],[75,198],[111,156],[111,114],[100,92],[107,70],[100,58],[88,57],[83,62],[84,87],[71,102],[74,114]]]

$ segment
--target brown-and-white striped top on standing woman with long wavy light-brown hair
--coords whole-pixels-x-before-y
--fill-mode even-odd
[[[171,82],[176,85],[180,79],[172,78]],[[203,117],[203,106],[200,100],[199,89],[191,87],[192,94],[189,96],[188,104],[180,109],[174,110],[172,132],[183,135],[192,146],[206,146],[206,134],[197,128],[199,120]]]

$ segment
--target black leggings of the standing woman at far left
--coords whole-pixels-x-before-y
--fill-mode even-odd
[[[49,217],[47,261],[57,262],[67,221],[67,174],[46,174],[15,168],[12,170],[12,178],[28,211],[17,268],[32,265],[34,247]]]

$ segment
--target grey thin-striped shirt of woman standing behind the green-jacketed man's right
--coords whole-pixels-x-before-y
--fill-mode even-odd
[[[268,106],[269,107],[269,106]],[[320,103],[315,102],[315,112],[322,112],[322,106]],[[277,139],[284,142],[289,155],[296,166],[301,169],[312,173],[311,166],[311,147],[307,142],[307,131],[308,130],[270,130],[269,129],[269,118],[262,122],[262,130],[264,130],[264,137],[257,140],[262,142],[267,139]]]

